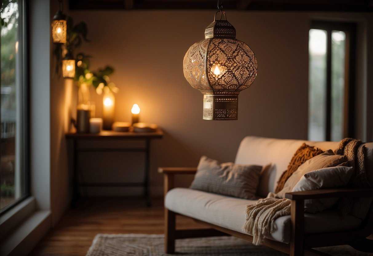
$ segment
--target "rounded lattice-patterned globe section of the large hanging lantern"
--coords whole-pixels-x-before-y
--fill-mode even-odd
[[[221,67],[222,74],[213,73],[217,64]],[[222,90],[224,94],[238,94],[254,82],[257,68],[257,59],[250,47],[242,41],[230,38],[199,41],[189,48],[184,57],[186,80],[204,94],[219,94]]]

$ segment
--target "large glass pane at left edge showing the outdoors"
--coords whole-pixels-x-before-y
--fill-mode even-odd
[[[24,1],[1,2],[0,212],[27,195]]]

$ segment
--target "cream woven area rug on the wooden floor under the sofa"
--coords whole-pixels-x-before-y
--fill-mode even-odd
[[[325,247],[325,253],[338,256],[367,256],[349,246]],[[176,240],[176,254],[185,256],[282,256],[265,246],[254,246],[236,237],[204,237]],[[86,256],[163,256],[164,235],[98,234]],[[371,255],[371,254],[370,254]]]

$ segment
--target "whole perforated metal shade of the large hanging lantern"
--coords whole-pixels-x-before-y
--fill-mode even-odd
[[[205,39],[184,56],[184,76],[203,96],[203,119],[237,120],[238,94],[254,82],[257,59],[250,47],[236,39],[226,20],[214,20]]]

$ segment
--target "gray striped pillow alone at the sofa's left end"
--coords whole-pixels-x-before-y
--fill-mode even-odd
[[[202,156],[190,188],[225,196],[255,199],[261,166],[219,163]]]

